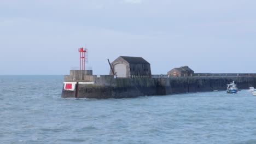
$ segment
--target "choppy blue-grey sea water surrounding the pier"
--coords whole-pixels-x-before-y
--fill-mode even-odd
[[[0,143],[256,143],[248,90],[62,99],[63,76],[0,76]]]

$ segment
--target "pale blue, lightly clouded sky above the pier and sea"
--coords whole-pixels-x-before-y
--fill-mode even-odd
[[[256,73],[256,1],[1,0],[0,75],[68,75],[89,51],[94,74],[107,59],[139,56],[153,74]]]

